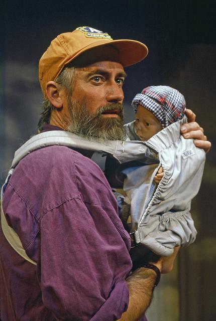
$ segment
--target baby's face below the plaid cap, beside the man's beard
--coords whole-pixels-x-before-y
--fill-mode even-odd
[[[135,131],[142,141],[146,141],[163,129],[160,121],[145,107],[138,105],[135,118]]]

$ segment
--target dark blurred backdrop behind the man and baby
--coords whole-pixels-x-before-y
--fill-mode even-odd
[[[133,119],[130,102],[136,93],[148,85],[165,84],[182,92],[187,107],[204,127],[213,145],[200,192],[192,204],[197,240],[181,251],[178,260],[180,312],[176,320],[180,321],[216,320],[215,4],[199,0],[39,0],[3,1],[0,5],[1,182],[14,150],[37,130],[43,101],[38,61],[53,38],[79,26],[102,30],[114,39],[139,40],[149,48],[143,62],[126,68],[126,121]],[[157,320],[162,318],[150,319]]]

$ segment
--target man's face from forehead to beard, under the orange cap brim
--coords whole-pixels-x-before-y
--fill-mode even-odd
[[[67,98],[68,130],[81,136],[123,139],[123,83],[119,62],[100,61],[77,68],[72,96]]]

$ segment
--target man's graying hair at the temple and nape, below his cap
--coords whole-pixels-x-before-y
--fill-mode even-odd
[[[61,74],[57,77],[55,82],[61,85],[67,96],[72,94],[72,87],[76,78],[76,68],[67,65]],[[49,99],[45,99],[42,105],[43,111],[41,113],[41,118],[38,122],[38,131],[42,130],[43,124],[49,124],[51,112],[54,109],[54,106],[51,104]]]

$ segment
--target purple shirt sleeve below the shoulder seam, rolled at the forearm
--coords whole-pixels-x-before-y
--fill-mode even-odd
[[[42,218],[37,272],[44,304],[57,318],[120,318],[128,306],[130,269],[121,231],[97,204],[74,198]]]

